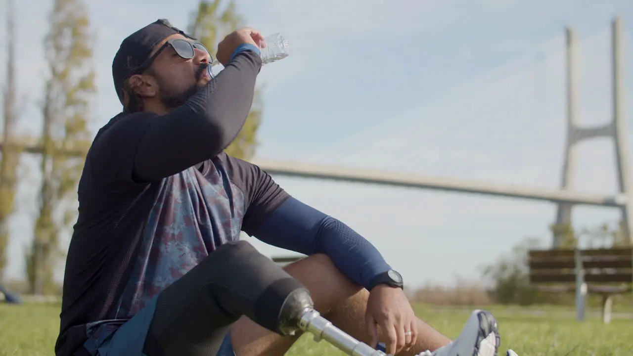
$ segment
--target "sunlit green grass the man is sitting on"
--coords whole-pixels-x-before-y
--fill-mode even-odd
[[[502,349],[510,346],[520,356],[630,355],[633,319],[614,319],[603,325],[597,315],[586,322],[573,319],[572,308],[488,308],[497,317]],[[449,337],[457,336],[470,308],[417,307],[422,319]],[[543,312],[544,311],[544,312]],[[0,304],[0,356],[53,355],[59,330],[58,305]],[[289,356],[342,355],[325,341],[303,336]]]

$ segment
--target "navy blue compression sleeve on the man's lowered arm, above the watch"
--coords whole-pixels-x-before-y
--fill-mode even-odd
[[[305,255],[324,253],[342,274],[365,288],[377,274],[391,269],[358,232],[292,197],[270,214],[256,238]]]

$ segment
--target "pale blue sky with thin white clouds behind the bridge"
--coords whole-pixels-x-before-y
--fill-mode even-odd
[[[4,35],[4,2],[0,46]],[[557,188],[565,143],[565,26],[577,35],[582,125],[611,118],[610,24],[622,16],[626,103],[633,99],[633,2],[627,0],[237,1],[244,24],[280,32],[291,55],[262,68],[257,157]],[[197,0],[92,1],[98,94],[93,132],[120,111],[111,61],[157,18],[185,28]],[[20,127],[41,132],[49,0],[16,1]],[[1,63],[6,54],[0,51]],[[4,74],[0,74],[0,80]],[[625,110],[632,136],[633,109]],[[630,140],[629,140],[630,141]],[[633,154],[633,143],[629,152]],[[616,192],[613,145],[583,143],[575,189]],[[24,159],[7,276],[23,276],[37,160]],[[346,222],[410,286],[480,280],[526,237],[549,246],[552,203],[275,176],[289,193]],[[575,207],[576,227],[618,211]],[[70,236],[63,236],[67,244]],[[288,254],[248,238],[266,255]],[[65,246],[65,245],[64,245]],[[63,266],[62,266],[63,267]],[[61,268],[58,276],[61,275]]]

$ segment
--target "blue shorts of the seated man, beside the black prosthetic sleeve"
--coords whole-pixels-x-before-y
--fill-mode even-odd
[[[158,296],[152,298],[144,308],[118,327],[114,333],[106,332],[103,336],[93,335],[86,341],[85,348],[96,356],[146,356],[143,353],[143,346],[154,310],[156,310],[157,299]],[[216,356],[235,356],[230,333],[224,337]]]

